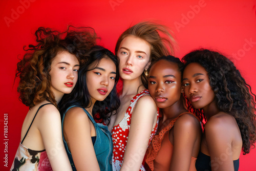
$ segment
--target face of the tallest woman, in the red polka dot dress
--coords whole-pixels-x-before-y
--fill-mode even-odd
[[[150,66],[150,44],[133,35],[125,37],[118,49],[119,73],[124,80],[139,78]]]

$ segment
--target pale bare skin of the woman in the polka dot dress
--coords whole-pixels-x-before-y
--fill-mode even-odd
[[[125,111],[131,104],[131,99],[145,90],[145,87],[141,86],[141,74],[150,66],[150,48],[145,40],[132,35],[125,37],[120,44],[117,56],[120,59],[119,72],[123,80],[123,89],[120,93],[121,105],[118,114],[111,118],[110,129],[123,119]],[[129,69],[132,73],[127,74],[124,69]],[[154,100],[147,95],[141,97],[133,110],[133,119],[120,170],[140,169],[148,140],[156,122],[157,107]],[[135,155],[136,160],[134,160]]]

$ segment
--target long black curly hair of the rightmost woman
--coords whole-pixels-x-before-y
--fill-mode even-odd
[[[218,109],[232,115],[239,126],[243,140],[243,154],[250,152],[250,146],[255,147],[256,121],[255,100],[251,87],[241,76],[233,62],[219,52],[207,49],[195,50],[182,58],[185,67],[192,62],[199,63],[207,71],[209,82],[215,93]],[[202,109],[195,109],[187,100],[188,110],[203,116]]]

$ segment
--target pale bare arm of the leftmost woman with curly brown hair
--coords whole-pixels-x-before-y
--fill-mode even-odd
[[[72,170],[61,133],[59,111],[53,105],[40,110],[38,130],[53,170]]]

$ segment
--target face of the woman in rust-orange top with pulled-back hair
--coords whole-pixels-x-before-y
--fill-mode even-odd
[[[180,99],[181,73],[176,63],[157,61],[149,73],[148,90],[158,108],[172,106]]]

